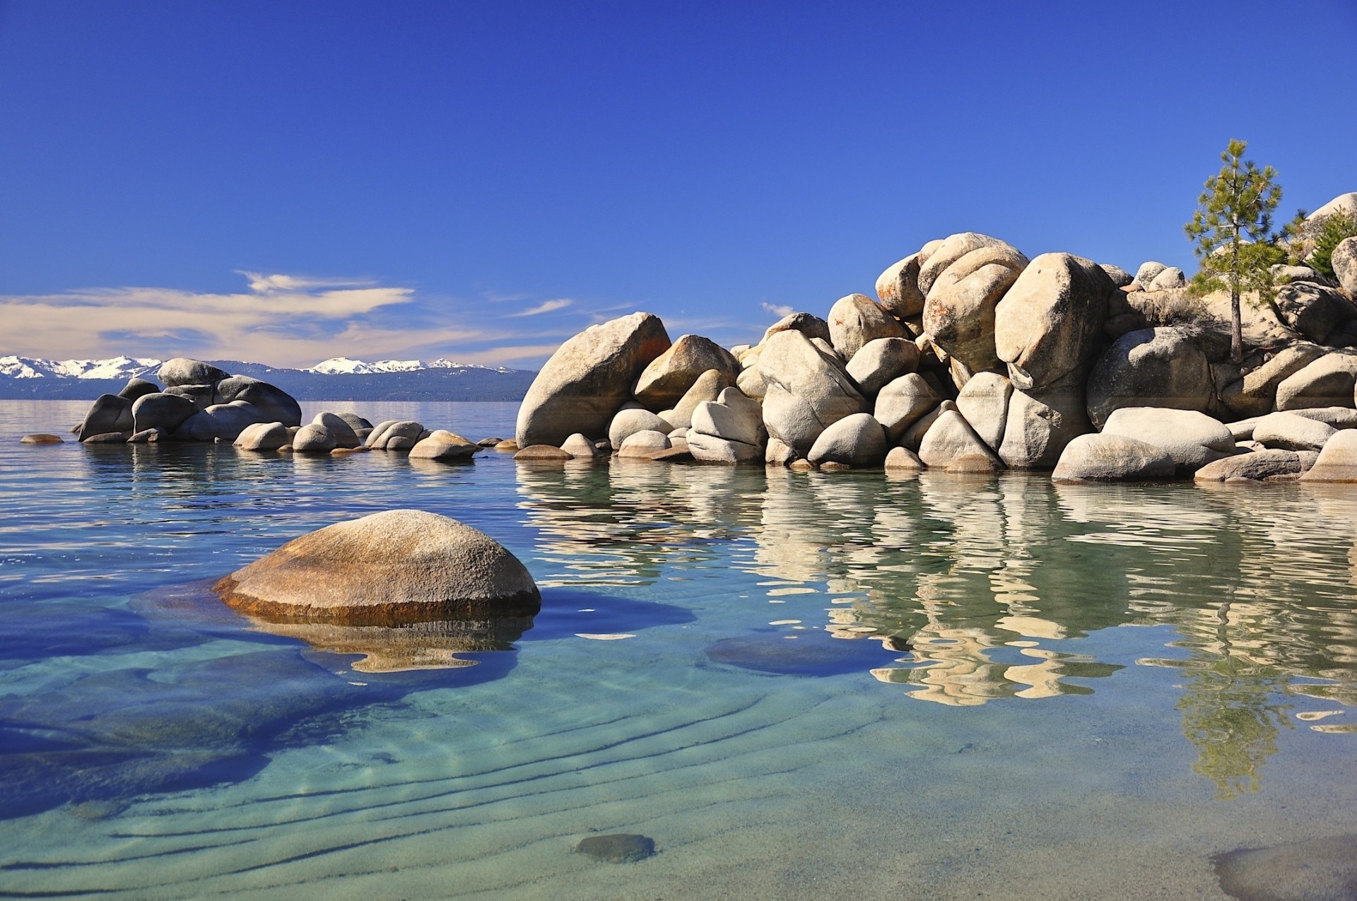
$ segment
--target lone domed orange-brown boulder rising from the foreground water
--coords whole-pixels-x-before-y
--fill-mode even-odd
[[[269,620],[399,626],[532,616],[541,594],[490,536],[423,510],[387,510],[303,535],[214,586]]]

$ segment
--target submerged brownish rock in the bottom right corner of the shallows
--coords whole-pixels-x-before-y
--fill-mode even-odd
[[[1240,901],[1353,901],[1357,835],[1272,848],[1242,848],[1212,858],[1225,894]]]

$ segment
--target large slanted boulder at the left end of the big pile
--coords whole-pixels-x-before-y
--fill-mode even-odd
[[[518,407],[518,446],[560,446],[575,432],[603,434],[631,399],[636,377],[668,349],[665,324],[641,312],[570,338],[547,360]]]

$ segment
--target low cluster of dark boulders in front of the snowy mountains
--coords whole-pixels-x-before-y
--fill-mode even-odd
[[[160,366],[156,377],[163,388],[132,379],[118,394],[100,395],[75,427],[76,437],[84,444],[233,442],[244,450],[294,453],[399,450],[427,460],[468,460],[498,442],[475,444],[414,421],[373,426],[353,413],[320,413],[303,425],[301,406],[288,392],[201,360],[178,357]],[[43,438],[54,436],[24,440],[37,444]]]

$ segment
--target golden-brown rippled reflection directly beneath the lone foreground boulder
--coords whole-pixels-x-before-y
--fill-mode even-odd
[[[531,616],[486,620],[436,620],[407,626],[334,626],[331,623],[269,623],[255,628],[296,638],[316,650],[362,654],[353,669],[396,673],[410,669],[455,669],[476,661],[457,657],[471,651],[506,651],[532,628]]]

